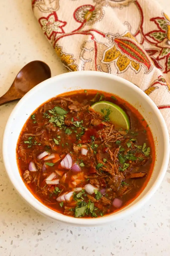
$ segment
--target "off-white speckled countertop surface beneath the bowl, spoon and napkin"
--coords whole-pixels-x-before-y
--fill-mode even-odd
[[[0,2],[0,95],[32,60],[48,63],[52,76],[66,72],[33,16],[31,1]],[[169,0],[159,2],[170,14]],[[15,105],[0,107],[0,145]],[[169,256],[170,168],[152,199],[132,216],[102,227],[71,227],[40,216],[19,197],[5,172],[0,148],[0,255]]]

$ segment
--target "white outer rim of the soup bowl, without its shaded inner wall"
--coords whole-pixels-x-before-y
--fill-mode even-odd
[[[40,202],[41,205],[38,205],[38,203],[36,202],[36,200],[38,200],[38,199],[36,199],[34,197],[36,200],[34,200],[34,199],[32,200],[31,198],[29,198],[28,194],[22,193],[22,189],[17,186],[16,180],[11,178],[12,170],[8,163],[8,151],[7,151],[7,147],[6,147],[6,140],[7,140],[8,134],[10,132],[10,130],[9,130],[10,123],[12,122],[16,112],[20,109],[20,106],[22,106],[22,104],[24,103],[24,100],[29,95],[36,93],[36,90],[38,90],[42,86],[46,87],[46,86],[48,86],[49,83],[57,82],[58,80],[62,79],[63,77],[69,79],[71,77],[79,77],[79,76],[106,77],[106,78],[110,78],[114,81],[121,82],[121,83],[125,84],[127,87],[130,87],[133,90],[135,90],[139,95],[141,95],[142,98],[145,98],[145,100],[148,101],[148,103],[152,106],[154,113],[157,115],[157,117],[159,119],[162,133],[163,133],[162,139],[163,139],[163,143],[164,143],[165,154],[162,159],[162,166],[161,166],[160,172],[159,172],[156,180],[154,181],[153,185],[151,186],[151,188],[147,191],[147,193],[145,195],[143,195],[142,198],[140,198],[137,202],[135,202],[134,205],[130,206],[129,208],[125,209],[124,211],[123,210],[117,211],[113,215],[110,214],[110,215],[106,215],[106,216],[103,216],[100,218],[73,218],[73,217],[69,217],[69,216],[60,214],[60,213],[46,207],[40,201],[38,201],[38,202]],[[151,98],[146,93],[144,93],[139,87],[135,86],[133,83],[129,82],[128,80],[118,77],[114,74],[108,74],[108,73],[99,72],[99,71],[74,71],[74,72],[63,73],[63,74],[59,74],[57,76],[51,77],[51,78],[39,83],[37,86],[32,88],[29,92],[27,92],[22,97],[22,99],[16,104],[16,106],[12,110],[12,112],[8,118],[8,121],[5,125],[3,142],[2,142],[2,151],[3,151],[3,160],[4,160],[5,169],[6,169],[6,172],[8,174],[8,177],[9,177],[11,183],[13,184],[14,188],[17,190],[19,195],[25,201],[27,201],[27,203],[29,205],[31,205],[36,211],[40,212],[41,214],[43,214],[46,217],[51,218],[53,220],[59,220],[59,221],[66,222],[69,224],[79,225],[79,226],[81,226],[81,225],[82,226],[96,226],[96,225],[108,223],[113,220],[117,220],[117,219],[120,219],[127,215],[132,214],[135,210],[142,207],[151,198],[151,196],[155,193],[155,191],[160,186],[160,184],[163,180],[163,177],[166,173],[166,170],[168,167],[168,162],[169,162],[170,144],[169,144],[168,129],[167,129],[166,123],[163,119],[161,112],[159,111],[159,109],[157,108],[155,103],[151,100]],[[31,192],[29,191],[29,193],[31,193]]]

